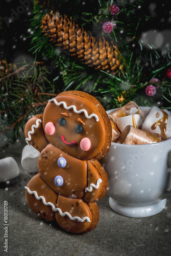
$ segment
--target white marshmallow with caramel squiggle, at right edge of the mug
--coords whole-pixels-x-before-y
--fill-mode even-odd
[[[163,140],[171,138],[171,115],[154,106],[146,116],[142,130],[160,135]]]

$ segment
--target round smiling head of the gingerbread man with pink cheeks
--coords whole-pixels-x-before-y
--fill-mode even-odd
[[[50,100],[43,114],[43,129],[48,141],[66,154],[81,160],[99,159],[106,147],[105,121],[88,94],[81,95],[84,97],[71,91]]]

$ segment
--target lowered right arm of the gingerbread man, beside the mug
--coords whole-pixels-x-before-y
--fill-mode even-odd
[[[87,161],[88,184],[84,200],[94,202],[101,200],[107,192],[108,177],[99,161]]]

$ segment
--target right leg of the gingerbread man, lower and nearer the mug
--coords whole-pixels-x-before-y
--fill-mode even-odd
[[[69,232],[89,232],[99,221],[99,207],[96,203],[59,195],[56,207],[55,217],[58,224]]]

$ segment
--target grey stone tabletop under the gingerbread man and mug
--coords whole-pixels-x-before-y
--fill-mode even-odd
[[[0,188],[0,255],[4,251],[4,201],[8,201],[8,254],[58,256],[133,256],[171,255],[171,199],[158,215],[128,218],[116,214],[106,196],[98,205],[100,221],[85,234],[71,234],[56,224],[44,221],[28,207],[25,185],[34,176],[21,167],[21,152],[26,145],[23,135],[15,144],[1,149],[0,159],[13,157],[20,174],[13,186]]]

